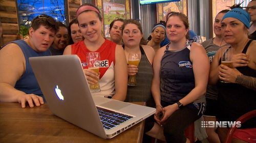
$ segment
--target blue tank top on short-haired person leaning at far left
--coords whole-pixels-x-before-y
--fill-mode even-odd
[[[14,88],[16,90],[23,91],[26,94],[35,94],[44,98],[32,71],[32,67],[29,64],[29,57],[51,55],[50,50],[48,49],[45,52],[36,52],[24,40],[16,40],[11,43],[17,44],[19,48],[22,49],[26,61],[26,70],[22,77],[17,80]]]

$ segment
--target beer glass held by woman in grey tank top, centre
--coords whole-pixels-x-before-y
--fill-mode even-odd
[[[128,64],[129,65],[135,65],[139,66],[140,63],[140,56],[138,53],[129,53],[128,56]],[[130,75],[128,79],[128,85],[130,86],[136,86],[137,81],[136,81],[136,75]]]

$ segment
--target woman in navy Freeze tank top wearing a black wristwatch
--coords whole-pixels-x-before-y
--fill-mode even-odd
[[[157,51],[153,63],[157,123],[147,134],[163,140],[154,135],[162,125],[167,142],[189,142],[184,130],[205,110],[209,61],[200,44],[188,41],[188,19],[183,13],[167,16],[166,35],[170,43]]]

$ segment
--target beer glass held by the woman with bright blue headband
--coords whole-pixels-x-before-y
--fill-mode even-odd
[[[229,68],[233,68],[233,64],[232,64],[232,56],[233,56],[233,48],[222,48],[221,49],[221,64],[225,65]],[[227,81],[222,81],[221,82],[225,82],[225,83],[229,83]]]

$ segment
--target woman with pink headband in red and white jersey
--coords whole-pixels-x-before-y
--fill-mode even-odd
[[[93,95],[108,96],[124,101],[127,91],[127,65],[122,47],[102,37],[103,19],[99,9],[94,5],[81,5],[77,9],[76,17],[84,40],[67,46],[64,54],[77,54],[79,56],[84,74],[86,74],[90,84],[97,83],[99,79],[101,92],[93,93]],[[87,52],[100,53],[100,75],[88,69]]]

